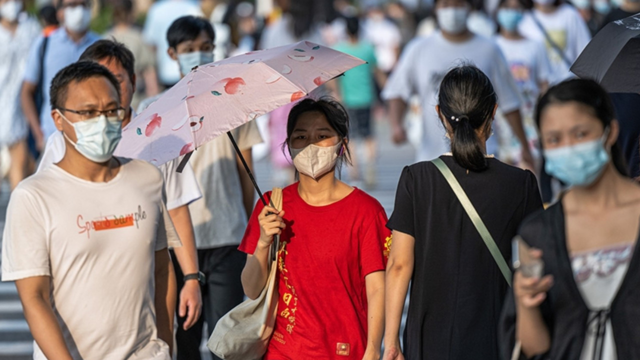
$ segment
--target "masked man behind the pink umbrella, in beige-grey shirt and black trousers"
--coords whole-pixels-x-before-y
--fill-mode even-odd
[[[211,22],[202,17],[180,17],[166,33],[168,54],[179,66],[181,77],[193,67],[211,63],[215,33]],[[138,113],[159,96],[141,102]],[[195,124],[197,127],[198,124]],[[196,128],[193,129],[197,131]],[[255,121],[231,131],[244,159],[252,167],[253,145],[262,142]],[[200,271],[205,275],[202,289],[204,319],[185,331],[178,319],[175,335],[178,360],[199,360],[203,320],[211,336],[214,326],[230,309],[244,300],[241,274],[246,255],[237,250],[253,211],[253,185],[227,136],[218,136],[193,152],[193,166],[202,199],[189,204]],[[175,260],[175,258],[173,258]],[[182,274],[176,275],[179,289]],[[214,359],[218,357],[213,356]]]

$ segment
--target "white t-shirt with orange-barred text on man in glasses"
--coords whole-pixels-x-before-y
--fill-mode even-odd
[[[51,305],[77,360],[169,360],[157,338],[155,255],[180,246],[164,208],[159,170],[140,160],[108,183],[57,165],[13,191],[2,279],[48,276]],[[34,345],[33,358],[46,360]]]

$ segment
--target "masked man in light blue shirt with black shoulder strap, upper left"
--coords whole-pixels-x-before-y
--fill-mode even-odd
[[[100,39],[89,31],[90,0],[58,0],[56,7],[56,15],[63,26],[48,38],[38,38],[31,47],[20,93],[22,111],[31,126],[38,151],[44,149],[47,138],[56,131],[49,106],[51,80],[63,67],[77,61],[84,49]],[[38,88],[38,83],[42,84],[41,88]],[[39,113],[35,102],[37,91],[42,91],[38,94],[42,95]]]

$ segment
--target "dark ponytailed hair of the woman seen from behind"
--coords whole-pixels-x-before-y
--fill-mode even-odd
[[[440,115],[453,130],[451,152],[456,163],[473,171],[488,167],[476,130],[490,126],[497,104],[493,85],[475,66],[463,65],[449,70],[440,83]]]

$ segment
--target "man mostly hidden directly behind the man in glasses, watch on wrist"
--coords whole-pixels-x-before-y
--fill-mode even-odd
[[[131,100],[136,88],[134,58],[131,51],[119,42],[98,40],[84,51],[79,61],[95,61],[106,67],[118,79],[120,82],[120,104],[125,109],[122,127],[129,125],[134,117]],[[38,171],[62,160],[65,148],[65,138],[60,131],[49,136],[40,165],[38,165]],[[126,156],[126,154],[122,154],[122,156]],[[200,284],[198,284],[198,257],[191,215],[189,214],[189,204],[200,199],[202,194],[191,165],[187,164],[182,173],[176,171],[179,165],[180,158],[177,158],[160,165],[158,168],[164,178],[166,208],[182,242],[182,247],[175,249],[175,258],[177,258],[182,273],[192,274],[191,277],[194,278],[187,281],[179,293],[178,316],[180,318],[186,316],[183,326],[188,329],[198,320],[202,312],[202,293]]]

